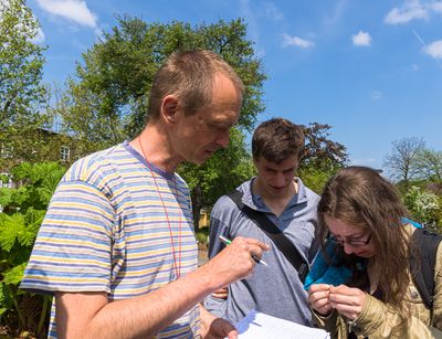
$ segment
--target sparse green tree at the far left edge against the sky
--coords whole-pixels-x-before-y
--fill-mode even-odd
[[[24,0],[0,2],[0,146],[22,159],[39,141],[29,138],[30,131],[48,123],[41,114],[48,96],[43,47],[33,42],[38,33],[39,23]],[[0,161],[4,165],[8,158]]]

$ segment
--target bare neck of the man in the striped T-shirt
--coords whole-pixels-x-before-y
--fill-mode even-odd
[[[148,124],[141,134],[129,144],[146,161],[166,172],[175,172],[182,161],[175,155],[168,134],[161,129],[159,124]]]

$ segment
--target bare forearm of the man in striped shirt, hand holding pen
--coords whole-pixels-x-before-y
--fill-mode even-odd
[[[107,303],[105,293],[56,293],[61,338],[137,338],[157,333],[217,288],[251,274],[265,244],[236,237],[192,273],[144,296]]]

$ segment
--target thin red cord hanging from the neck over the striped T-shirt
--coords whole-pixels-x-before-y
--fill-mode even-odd
[[[147,167],[149,168],[150,176],[154,179],[155,187],[157,189],[159,199],[161,200],[162,209],[164,209],[165,214],[166,214],[167,226],[169,229],[170,244],[172,245],[173,268],[175,268],[176,278],[178,279],[180,277],[180,273],[181,273],[181,212],[180,212],[181,208],[180,208],[180,203],[179,203],[179,193],[178,193],[178,189],[177,189],[177,178],[173,174],[173,180],[172,181],[173,181],[173,184],[175,184],[175,192],[177,194],[176,199],[177,199],[177,203],[178,203],[178,214],[179,214],[179,222],[178,222],[178,229],[179,229],[179,233],[178,233],[178,261],[177,261],[177,254],[175,253],[175,242],[173,242],[172,229],[170,226],[170,221],[169,221],[169,213],[167,212],[165,201],[162,200],[162,194],[161,194],[161,192],[159,190],[159,186],[158,186],[158,182],[157,182],[157,179],[156,179],[156,173],[152,171],[149,160],[147,160],[145,150],[144,150],[143,145],[141,145],[140,137],[138,137],[138,144],[139,144],[139,148],[141,149],[143,156],[145,157]],[[172,194],[173,194],[173,192],[172,192]]]

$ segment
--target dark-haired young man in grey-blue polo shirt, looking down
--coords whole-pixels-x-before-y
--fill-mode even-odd
[[[296,177],[304,153],[305,137],[299,126],[283,118],[262,123],[252,138],[253,161],[257,176],[242,183],[242,203],[270,220],[309,265],[317,252],[315,242],[318,195]],[[307,293],[297,269],[278,246],[228,195],[221,197],[210,216],[209,257],[224,248],[219,236],[246,236],[270,244],[253,274],[230,284],[206,298],[207,308],[235,324],[250,310],[311,325]]]

